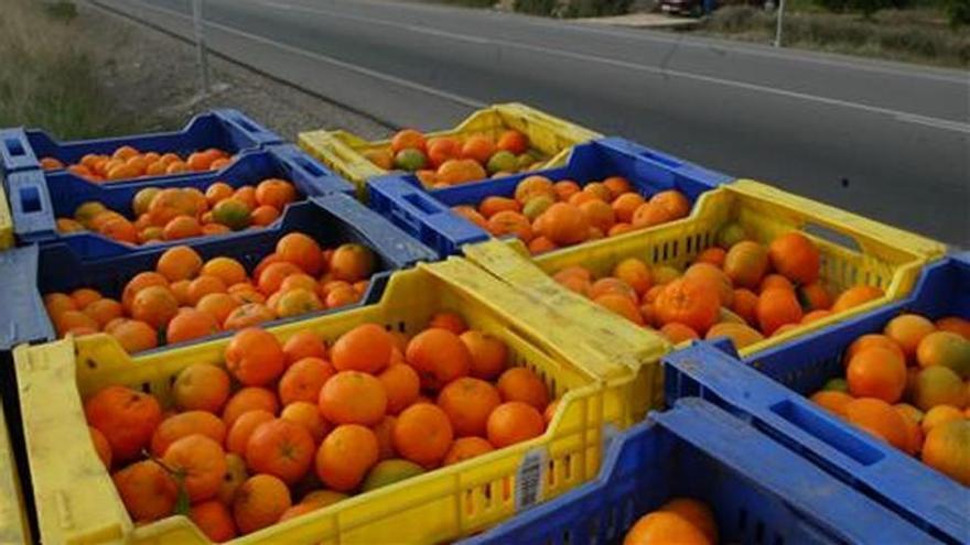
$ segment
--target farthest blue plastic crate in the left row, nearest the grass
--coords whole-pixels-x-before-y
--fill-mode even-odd
[[[233,109],[198,115],[181,131],[72,142],[58,142],[40,129],[3,129],[0,130],[0,174],[40,168],[40,159],[46,156],[69,164],[79,162],[88,153],[110,155],[122,145],[185,156],[207,148],[238,153],[281,142],[277,133]]]

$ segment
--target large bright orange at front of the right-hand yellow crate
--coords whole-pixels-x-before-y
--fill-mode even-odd
[[[721,304],[710,286],[696,279],[678,279],[659,292],[654,309],[661,325],[676,321],[703,334],[718,320]]]

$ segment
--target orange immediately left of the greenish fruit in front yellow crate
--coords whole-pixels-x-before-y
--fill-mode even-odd
[[[379,459],[377,437],[369,428],[345,424],[334,428],[316,450],[316,476],[341,492],[356,489]]]

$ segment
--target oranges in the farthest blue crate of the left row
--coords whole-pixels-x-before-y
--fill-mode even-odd
[[[140,152],[130,145],[122,145],[110,155],[88,153],[80,162],[66,166],[68,172],[96,184],[120,182],[142,176],[166,176],[186,172],[217,171],[233,162],[223,150],[209,148],[182,159],[177,153]],[[42,157],[41,168],[52,171],[64,168],[55,157]]]

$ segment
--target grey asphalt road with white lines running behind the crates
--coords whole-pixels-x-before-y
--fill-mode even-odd
[[[192,35],[190,0],[98,0]],[[205,0],[216,52],[392,126],[522,101],[970,246],[970,76],[369,0]]]

